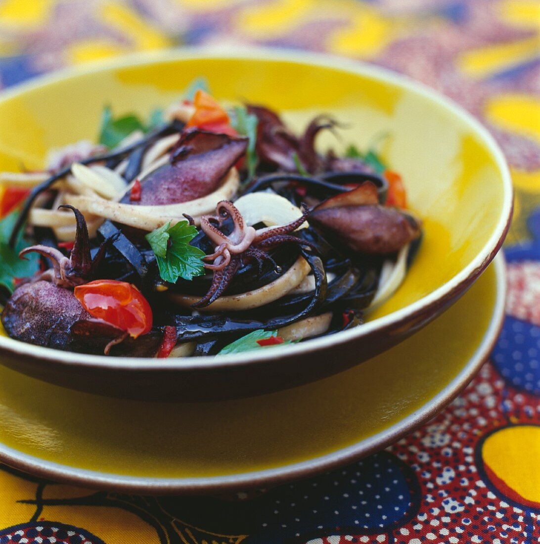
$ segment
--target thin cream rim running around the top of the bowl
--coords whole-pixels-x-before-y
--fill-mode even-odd
[[[512,219],[513,209],[513,189],[510,171],[506,164],[506,160],[499,146],[495,143],[492,135],[487,129],[481,125],[471,114],[465,111],[461,106],[455,104],[449,98],[438,94],[438,92],[430,89],[426,85],[412,81],[411,79],[397,75],[394,72],[380,68],[378,66],[362,64],[355,60],[333,57],[328,54],[308,53],[280,49],[267,49],[259,47],[243,48],[242,53],[227,51],[223,48],[183,48],[182,50],[169,52],[152,52],[145,54],[130,55],[121,60],[112,60],[98,63],[98,66],[83,67],[82,69],[67,69],[60,71],[57,74],[38,78],[37,81],[22,84],[14,90],[3,92],[0,96],[0,102],[8,100],[11,96],[17,96],[26,90],[46,86],[52,82],[62,81],[88,73],[103,72],[110,69],[120,68],[123,66],[144,66],[152,65],[166,61],[181,61],[182,59],[197,59],[197,58],[214,58],[214,59],[262,59],[272,61],[291,61],[300,64],[308,64],[312,66],[330,67],[331,69],[343,70],[364,77],[371,77],[383,83],[394,84],[405,88],[414,94],[423,96],[428,100],[436,102],[440,107],[457,116],[471,131],[482,141],[482,143],[491,152],[496,165],[499,168],[504,191],[504,199],[502,203],[502,212],[499,222],[489,237],[482,250],[476,257],[467,264],[458,274],[451,280],[444,283],[432,293],[424,296],[420,300],[413,302],[401,308],[398,311],[392,312],[387,316],[374,319],[371,322],[363,324],[361,327],[355,327],[348,331],[342,331],[330,337],[315,338],[306,343],[295,344],[287,348],[287,355],[294,356],[299,354],[307,354],[312,351],[328,348],[338,344],[348,342],[352,338],[362,338],[369,335],[374,330],[383,330],[388,327],[399,326],[415,316],[426,311],[437,310],[442,300],[452,298],[452,295],[459,293],[460,290],[467,288],[481,273],[486,269],[487,265],[492,261],[496,252],[500,249],[504,242],[510,221]],[[57,365],[82,365],[86,368],[94,369],[115,369],[124,370],[129,373],[131,370],[141,372],[150,370],[155,372],[159,369],[173,370],[186,372],[195,368],[205,368],[211,370],[226,366],[240,366],[243,364],[257,364],[258,362],[268,361],[275,358],[270,350],[256,354],[246,352],[237,355],[223,355],[220,357],[204,356],[191,357],[188,360],[179,358],[156,360],[137,357],[106,357],[103,355],[84,355],[72,354],[65,351],[58,351],[51,348],[44,348],[32,344],[26,344],[16,341],[12,338],[0,337],[0,354],[2,351],[9,351],[17,356],[24,356],[38,360],[40,364],[45,361],[54,361]]]

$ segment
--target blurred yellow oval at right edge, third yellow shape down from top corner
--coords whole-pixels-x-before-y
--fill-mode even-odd
[[[494,96],[486,102],[487,118],[523,136],[535,138],[540,143],[540,101],[526,94]]]

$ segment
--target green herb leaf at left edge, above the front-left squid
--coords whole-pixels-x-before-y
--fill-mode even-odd
[[[11,249],[9,246],[9,237],[17,216],[18,212],[13,212],[0,221],[0,285],[7,288],[10,293],[15,287],[14,279],[16,277],[32,276],[39,270],[38,254],[30,253],[26,259],[21,259],[18,256],[19,252],[29,245],[22,238],[22,234],[17,239],[15,249]]]

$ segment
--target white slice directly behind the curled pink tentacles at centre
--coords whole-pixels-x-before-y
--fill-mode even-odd
[[[291,204],[285,197],[275,193],[249,193],[234,202],[234,206],[242,214],[247,225],[263,222],[268,227],[287,225],[302,217],[299,207]],[[308,227],[304,221],[300,228]]]

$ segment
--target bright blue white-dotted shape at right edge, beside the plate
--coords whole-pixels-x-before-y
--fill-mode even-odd
[[[509,385],[540,396],[540,327],[507,316],[492,360]]]

